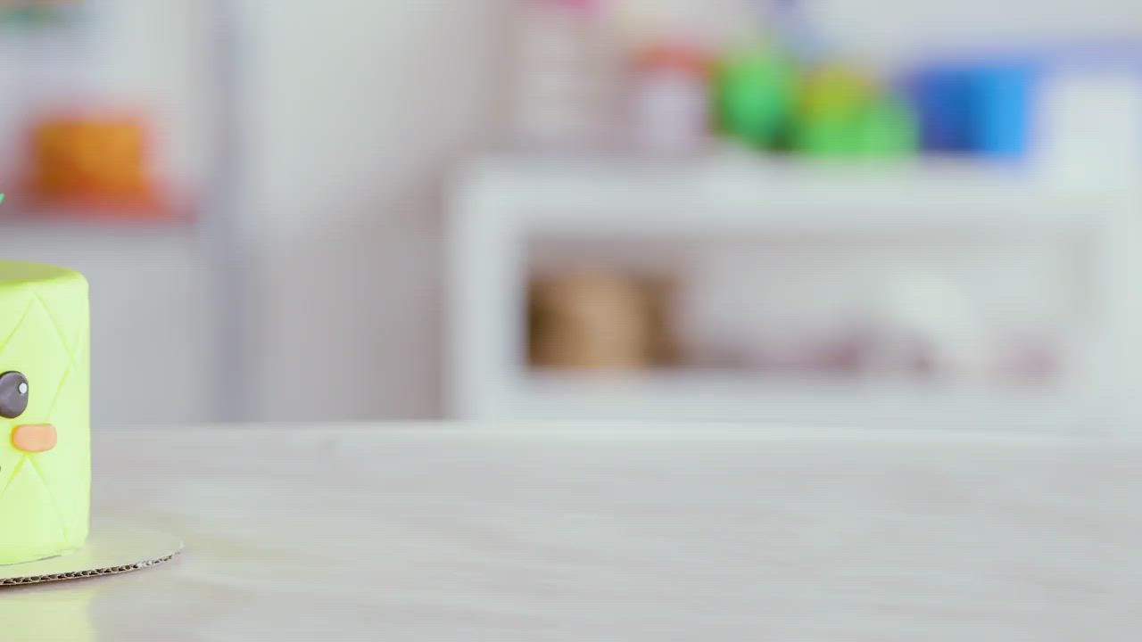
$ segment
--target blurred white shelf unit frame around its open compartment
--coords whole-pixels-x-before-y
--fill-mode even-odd
[[[965,162],[830,166],[711,157],[484,158],[452,185],[448,411],[468,419],[707,419],[834,425],[1119,427],[1142,385],[1142,212],[1129,186],[1065,187]],[[1095,331],[1056,388],[796,380],[683,370],[628,378],[531,372],[529,239],[735,241],[923,234],[1085,243]]]

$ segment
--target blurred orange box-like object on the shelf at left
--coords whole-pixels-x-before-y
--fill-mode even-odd
[[[151,133],[134,115],[48,117],[32,127],[29,191],[34,209],[167,217],[151,168]]]

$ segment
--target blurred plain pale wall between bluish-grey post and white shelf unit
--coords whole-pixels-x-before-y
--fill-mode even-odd
[[[435,415],[442,180],[486,138],[505,2],[247,7],[252,411]]]

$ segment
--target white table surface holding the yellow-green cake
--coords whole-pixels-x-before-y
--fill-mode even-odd
[[[0,589],[5,641],[1142,640],[1140,442],[409,425],[95,449],[96,528],[186,552]]]

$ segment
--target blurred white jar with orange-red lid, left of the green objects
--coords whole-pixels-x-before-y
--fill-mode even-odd
[[[700,49],[665,43],[637,61],[632,96],[635,145],[674,157],[701,151],[709,141],[709,63]]]

